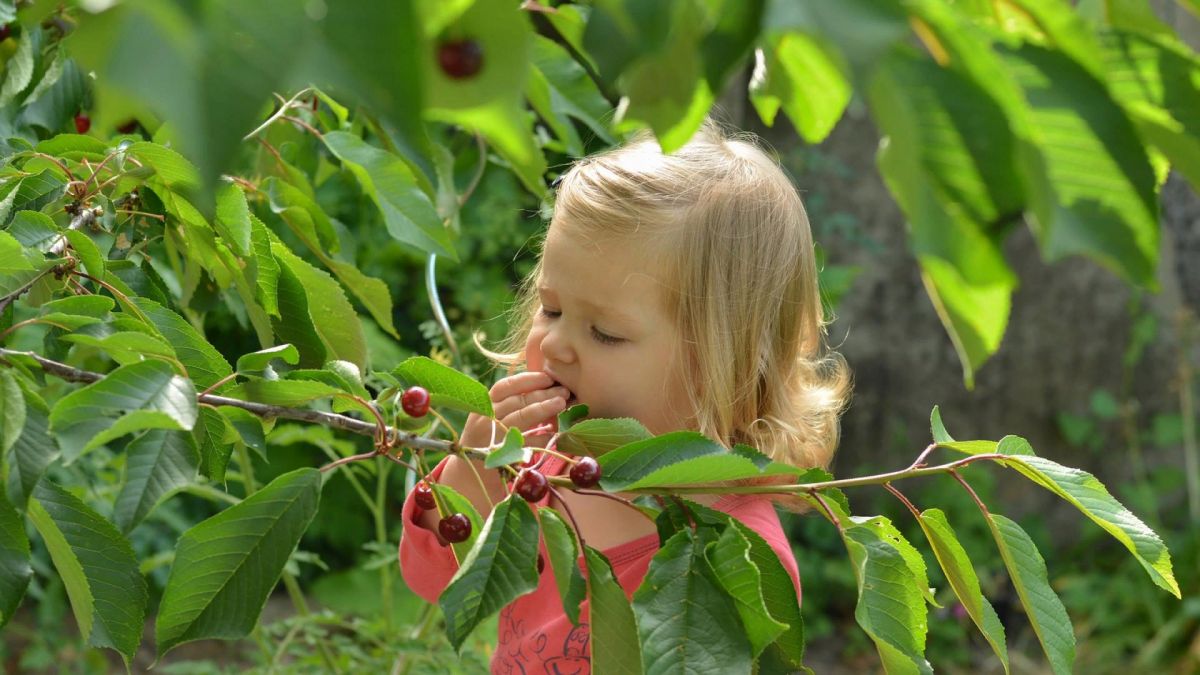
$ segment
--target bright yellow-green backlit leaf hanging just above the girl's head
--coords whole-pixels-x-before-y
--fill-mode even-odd
[[[818,38],[802,32],[772,37],[750,80],[750,101],[768,126],[782,106],[809,143],[820,143],[841,119],[851,86],[845,67]]]

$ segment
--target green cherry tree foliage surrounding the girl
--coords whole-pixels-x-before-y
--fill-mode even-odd
[[[1004,18],[938,0],[604,0],[544,16],[515,2],[328,5],[0,2],[12,30],[0,43],[0,626],[26,595],[52,607],[58,593],[80,637],[128,664],[161,586],[160,658],[245,637],[280,579],[294,592],[301,565],[324,565],[305,533],[325,503],[330,518],[370,520],[359,524],[373,534],[362,569],[377,575],[385,619],[360,627],[388,641],[407,602],[394,592],[386,519],[396,480],[384,460],[347,462],[424,467],[431,458],[413,446],[461,450],[445,425],[494,411],[478,378],[486,363],[460,345],[499,313],[508,291],[497,289],[529,262],[478,261],[508,257],[540,229],[516,214],[548,213],[548,166],[641,127],[679,148],[751,59],[760,118],[774,124],[782,110],[809,142],[856,92],[866,103],[884,135],[880,171],[968,387],[1007,328],[1016,282],[1000,251],[1014,225],[1027,222],[1048,261],[1084,255],[1153,288],[1157,187],[1170,166],[1200,179],[1196,56],[1129,4],[1022,1]],[[434,55],[462,38],[486,67],[454,77]],[[292,96],[274,104],[277,90]],[[68,132],[80,113],[91,133]],[[841,273],[845,287],[853,270]],[[434,300],[438,321],[425,321],[439,288],[450,310]],[[436,423],[397,410],[408,386],[431,392]],[[1120,414],[1109,404],[1092,407]],[[632,419],[586,416],[560,417],[558,448],[599,458],[610,492],[774,490],[812,502],[841,534],[854,616],[884,669],[931,669],[926,603],[937,597],[922,554],[887,518],[851,515],[839,490],[883,479],[833,482],[695,432],[652,437]],[[276,429],[278,417],[378,444]],[[412,434],[384,434],[388,423]],[[1092,474],[1013,436],[954,441],[936,410],[932,428],[940,449],[968,455],[952,468],[1014,468],[1181,596],[1163,540]],[[487,468],[526,459],[514,431]],[[306,449],[280,452],[293,444]],[[307,466],[317,450],[340,464],[329,485]],[[911,471],[902,477],[926,470]],[[792,579],[736,519],[660,504],[662,545],[630,603],[570,518],[517,497],[480,514],[449,486],[434,494],[439,513],[473,524],[439,603],[455,651],[536,586],[544,539],[564,611],[582,622],[587,608],[596,671],[804,669]],[[370,518],[330,495],[359,497]],[[1008,668],[967,546],[937,509],[918,524]],[[988,527],[1051,667],[1069,671],[1070,620],[1037,546],[1003,516],[989,514]],[[308,665],[359,653],[356,643],[342,653],[346,635],[300,601],[298,611],[272,664],[304,641],[298,632],[318,645]],[[355,664],[385,669],[378,652]]]

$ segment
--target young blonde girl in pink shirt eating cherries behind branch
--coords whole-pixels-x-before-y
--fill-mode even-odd
[[[492,420],[472,416],[464,446],[498,442],[508,426],[553,424],[581,402],[590,417],[636,418],[653,434],[696,430],[800,467],[827,466],[833,455],[850,377],[845,362],[823,350],[804,207],[752,141],[727,137],[713,121],[671,155],[642,133],[576,162],[560,180],[540,261],[516,311],[508,353],[486,353],[524,371],[491,389],[497,436]],[[554,456],[542,464],[547,476],[568,468]],[[486,514],[506,489],[494,471],[476,470],[488,495],[455,456],[431,479]],[[535,506],[569,508],[632,596],[659,548],[654,524],[619,502],[560,492],[565,504],[546,497]],[[758,532],[799,597],[796,560],[769,498],[696,501]],[[437,602],[456,571],[437,533],[438,514],[422,512],[409,495],[403,522],[404,580]],[[502,610],[492,671],[588,673],[587,616],[584,603],[580,626],[571,625],[553,573],[544,569],[536,591]]]

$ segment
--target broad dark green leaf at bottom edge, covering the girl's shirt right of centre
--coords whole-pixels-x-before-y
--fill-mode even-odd
[[[684,528],[650,560],[634,592],[646,673],[750,671],[750,643],[738,609],[704,560],[715,539],[712,527]]]

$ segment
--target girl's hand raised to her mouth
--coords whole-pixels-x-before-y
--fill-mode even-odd
[[[539,424],[550,422],[557,428],[556,416],[566,408],[571,393],[545,372],[518,372],[510,375],[492,386],[492,411],[496,413],[496,436],[492,436],[492,420],[472,413],[467,418],[461,444],[468,448],[481,448],[499,443],[510,426],[527,431]],[[548,436],[526,440],[526,446],[545,447]]]

